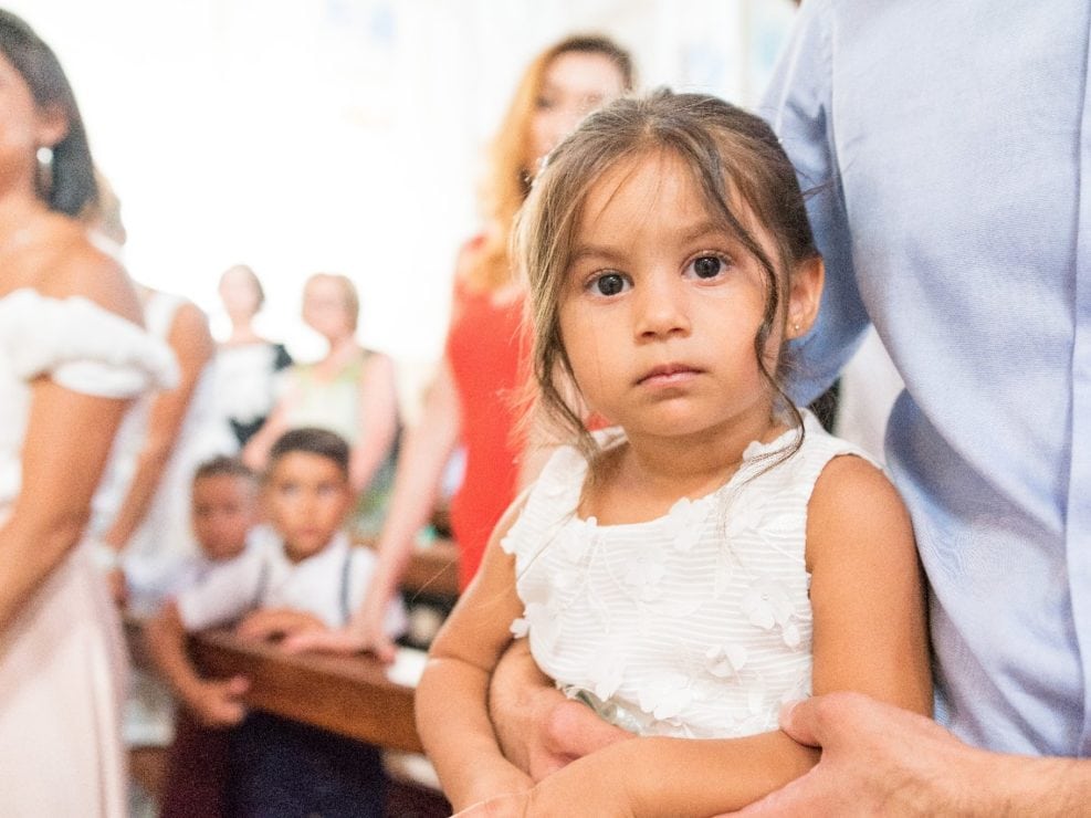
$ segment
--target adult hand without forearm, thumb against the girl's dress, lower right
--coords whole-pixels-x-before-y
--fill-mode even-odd
[[[821,747],[806,775],[735,815],[987,815],[975,807],[997,756],[963,744],[930,719],[860,693],[789,705],[780,728]]]

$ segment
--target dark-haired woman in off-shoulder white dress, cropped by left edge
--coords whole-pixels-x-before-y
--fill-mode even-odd
[[[122,816],[119,629],[81,535],[128,398],[175,377],[74,218],[87,140],[52,51],[0,11],[0,811]]]

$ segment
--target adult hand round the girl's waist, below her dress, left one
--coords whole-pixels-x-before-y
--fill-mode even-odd
[[[566,699],[538,670],[525,639],[514,642],[496,665],[489,712],[504,756],[535,782],[633,737],[587,705]]]

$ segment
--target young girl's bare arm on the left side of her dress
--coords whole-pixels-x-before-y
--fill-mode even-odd
[[[515,558],[500,545],[520,507],[516,501],[496,525],[481,568],[436,636],[417,685],[417,732],[455,809],[532,783],[504,758],[487,710],[490,677],[512,641],[512,622],[523,614]]]

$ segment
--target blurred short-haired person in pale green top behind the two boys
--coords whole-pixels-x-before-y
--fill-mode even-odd
[[[243,449],[263,470],[273,442],[290,429],[337,432],[352,447],[349,483],[360,497],[354,527],[374,529],[385,507],[398,436],[394,361],[356,339],[359,296],[347,276],[316,273],[303,287],[303,319],[326,342],[326,354],[283,374],[280,398]]]

